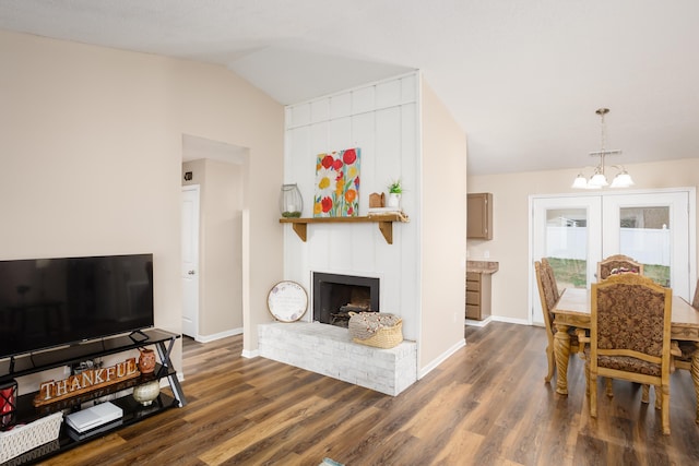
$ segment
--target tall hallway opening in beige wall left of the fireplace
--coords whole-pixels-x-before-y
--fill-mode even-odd
[[[188,248],[198,252],[198,264],[182,264],[182,333],[200,343],[242,333],[242,290],[249,274],[249,258],[244,254],[248,171],[247,148],[183,135],[182,186],[200,187],[199,214],[191,214],[199,219],[200,241],[190,246],[194,234],[182,232],[182,260],[187,262]],[[188,289],[194,284],[196,294]],[[196,315],[189,314],[190,309],[197,309]]]

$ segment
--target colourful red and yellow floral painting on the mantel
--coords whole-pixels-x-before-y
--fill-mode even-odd
[[[318,154],[313,217],[356,217],[359,211],[358,147]]]

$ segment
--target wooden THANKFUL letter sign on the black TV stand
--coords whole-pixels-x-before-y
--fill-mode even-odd
[[[49,403],[70,398],[83,393],[102,389],[134,377],[141,375],[135,363],[135,358],[129,358],[108,368],[87,369],[68,379],[43,382],[39,393],[34,397],[34,406],[43,406]]]

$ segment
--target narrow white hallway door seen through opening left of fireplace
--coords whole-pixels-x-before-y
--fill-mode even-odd
[[[199,334],[199,184],[182,187],[182,333]]]

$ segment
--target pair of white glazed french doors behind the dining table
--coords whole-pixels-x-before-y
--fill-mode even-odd
[[[644,264],[644,275],[689,299],[696,279],[694,200],[694,188],[532,196],[532,322],[544,322],[533,266],[541,258],[549,260],[562,289],[589,288],[597,262],[626,254]]]

